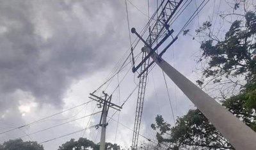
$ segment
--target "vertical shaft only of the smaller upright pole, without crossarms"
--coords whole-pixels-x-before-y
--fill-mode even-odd
[[[101,136],[100,136],[100,150],[105,150],[105,140],[106,140],[106,122],[107,122],[107,107],[106,101],[104,101],[104,106],[103,106],[103,112],[102,112],[102,126],[101,126]]]

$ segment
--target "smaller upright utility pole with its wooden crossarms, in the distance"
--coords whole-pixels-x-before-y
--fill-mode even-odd
[[[89,98],[98,102],[98,104],[97,104],[98,108],[101,108],[102,104],[103,104],[102,114],[101,114],[100,123],[99,123],[99,126],[101,126],[100,150],[105,150],[106,126],[108,126],[107,116],[108,116],[109,107],[116,109],[118,111],[120,111],[120,109],[122,109],[122,107],[115,105],[114,103],[111,103],[112,95],[108,96],[108,94],[104,93],[104,91],[102,93],[104,94],[104,99],[102,97],[96,96],[93,93],[90,93],[90,96],[92,96],[92,97],[89,96]]]

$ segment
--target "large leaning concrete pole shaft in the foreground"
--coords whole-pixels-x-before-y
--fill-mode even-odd
[[[143,48],[147,53],[148,47]],[[155,52],[150,56],[237,150],[255,150],[256,133]]]

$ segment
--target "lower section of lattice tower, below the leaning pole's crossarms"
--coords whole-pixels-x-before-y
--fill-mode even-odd
[[[142,55],[143,55],[142,59],[144,59],[146,56],[146,52],[142,52]],[[141,66],[140,72],[145,70],[145,68],[147,66],[148,66],[148,61],[143,63],[143,65]],[[137,146],[138,146],[138,137],[139,137],[139,133],[140,133],[141,116],[142,116],[143,103],[144,103],[145,91],[146,91],[146,86],[147,86],[147,75],[148,75],[148,71],[145,71],[140,76],[137,106],[136,106],[136,115],[135,115],[134,129],[133,129],[133,135],[132,135],[132,149],[137,149]]]

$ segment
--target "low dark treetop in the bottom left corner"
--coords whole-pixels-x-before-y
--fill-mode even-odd
[[[8,140],[0,144],[0,150],[44,150],[44,147],[35,141],[23,142],[22,139]]]

